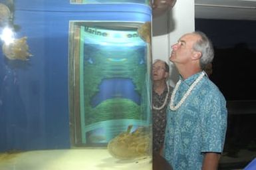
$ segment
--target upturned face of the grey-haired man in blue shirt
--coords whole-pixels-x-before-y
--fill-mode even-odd
[[[182,36],[176,44],[172,45],[172,54],[170,61],[174,63],[186,64],[192,60],[193,44],[199,40],[199,36],[195,34],[186,34]]]

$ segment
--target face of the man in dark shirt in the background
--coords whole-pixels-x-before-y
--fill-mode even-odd
[[[164,62],[158,61],[153,64],[152,76],[154,81],[166,80],[168,76],[168,72],[166,72],[166,67]]]

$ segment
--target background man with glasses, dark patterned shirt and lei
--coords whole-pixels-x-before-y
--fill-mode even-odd
[[[160,153],[164,145],[164,131],[166,129],[166,107],[170,102],[173,90],[167,83],[169,66],[163,60],[155,60],[152,68],[153,78],[153,151]]]

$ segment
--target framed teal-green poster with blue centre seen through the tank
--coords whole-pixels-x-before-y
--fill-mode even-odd
[[[79,44],[70,46],[74,143],[106,145],[130,125],[134,130],[149,126],[150,45],[138,33],[145,25],[88,21],[70,25],[74,33],[70,44]]]

